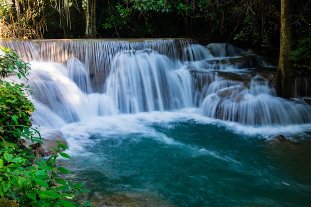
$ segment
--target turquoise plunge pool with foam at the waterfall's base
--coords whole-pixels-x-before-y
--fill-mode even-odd
[[[62,162],[98,207],[311,205],[310,136],[280,142],[188,112],[69,125],[72,160]]]

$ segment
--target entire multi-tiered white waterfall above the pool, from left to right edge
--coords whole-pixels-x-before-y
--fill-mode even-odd
[[[31,64],[38,125],[184,108],[251,126],[311,122],[311,106],[277,97],[268,79],[254,75],[267,67],[258,56],[224,43],[1,39],[0,45]]]

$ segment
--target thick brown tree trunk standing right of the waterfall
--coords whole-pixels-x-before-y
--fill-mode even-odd
[[[277,90],[284,98],[294,96],[294,70],[290,60],[293,48],[293,0],[281,0],[280,58],[277,69]]]

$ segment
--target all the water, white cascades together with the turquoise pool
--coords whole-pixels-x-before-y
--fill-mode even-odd
[[[249,51],[172,39],[0,45],[30,62],[33,124],[62,132],[72,160],[61,162],[95,207],[309,207],[311,106],[278,97],[257,69],[273,66]]]

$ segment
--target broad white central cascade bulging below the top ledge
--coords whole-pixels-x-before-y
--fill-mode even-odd
[[[107,94],[122,113],[192,106],[189,71],[151,50],[122,51],[112,63]]]

